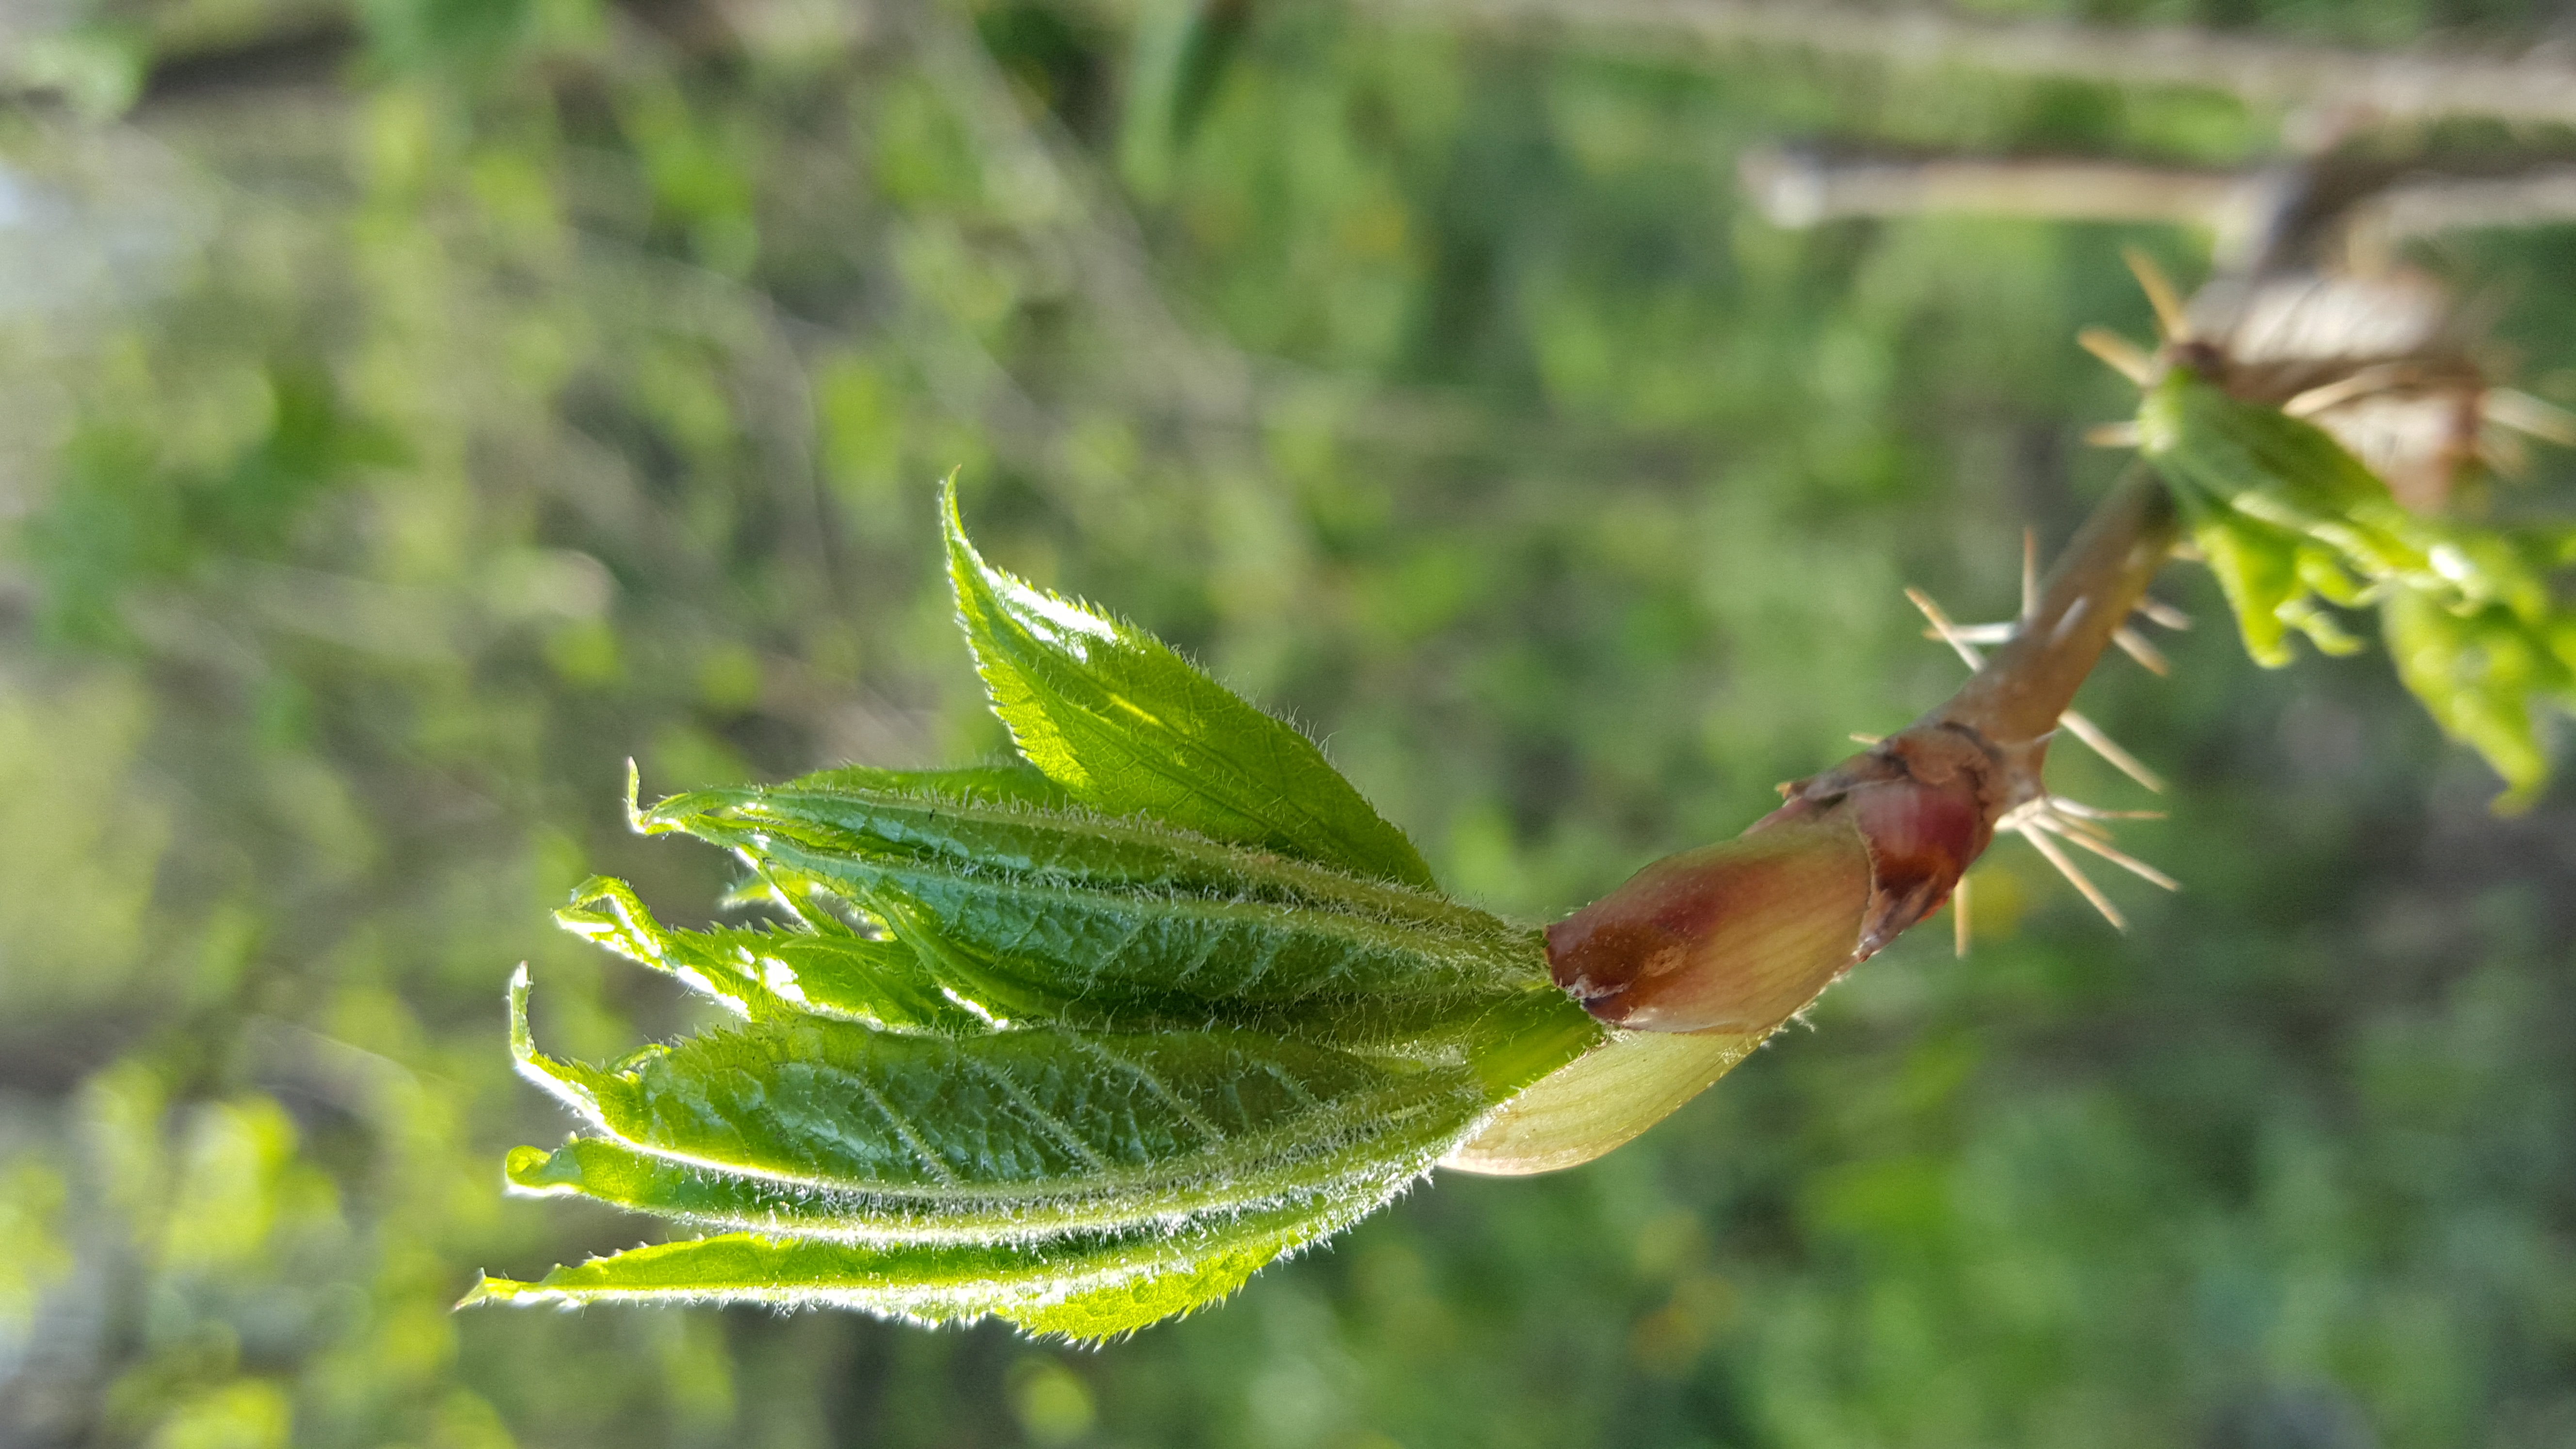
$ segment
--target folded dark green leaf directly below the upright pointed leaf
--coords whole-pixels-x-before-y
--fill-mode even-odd
[[[1002,1018],[1358,1003],[1394,1024],[1546,982],[1535,931],[1139,817],[781,786],[672,797],[639,822],[757,859],[788,900],[886,923],[930,982]]]

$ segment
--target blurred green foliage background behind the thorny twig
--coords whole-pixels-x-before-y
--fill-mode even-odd
[[[1986,0],[2527,44],[2540,0]],[[703,920],[647,792],[999,748],[933,482],[1558,915],[1937,701],[2146,335],[2125,242],[1783,232],[1747,144],[2233,165],[2223,93],[1352,0],[21,0],[0,10],[0,1444],[2576,1444],[2576,794],[2499,820],[2385,657],[2087,709],[2187,882],[2020,846],[1646,1140],[1443,1176],[1100,1351],[757,1310],[451,1312],[657,1225],[502,980]],[[2396,147],[2576,152],[2445,126]],[[2576,402],[2576,229],[2429,255]],[[2576,480],[2545,454],[2522,505]],[[2066,753],[2079,799],[2148,804]]]

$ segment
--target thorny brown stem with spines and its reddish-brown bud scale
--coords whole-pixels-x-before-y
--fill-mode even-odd
[[[2061,719],[2081,724],[2066,709],[2076,686],[2177,536],[2174,498],[2141,467],[2094,508],[2048,583],[2022,585],[2022,619],[1994,657],[1978,663],[1940,608],[1919,601],[1976,665],[1968,683],[1865,753],[1780,786],[1780,810],[1741,838],[1667,856],[1548,926],[1548,975],[1610,1026],[1759,1042],[1940,910],[1996,830],[2027,835],[2120,923],[2050,835],[2174,882],[2112,848],[2094,825],[2102,812],[2050,799],[2040,766]],[[2143,766],[2133,773],[2151,779]]]

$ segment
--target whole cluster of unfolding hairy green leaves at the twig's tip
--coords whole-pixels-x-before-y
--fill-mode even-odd
[[[762,926],[613,879],[562,923],[739,1024],[520,1070],[585,1132],[523,1194],[701,1238],[477,1299],[750,1299],[1103,1338],[1239,1287],[1419,1178],[1600,1029],[1535,931],[1437,895],[1296,730],[1151,634],[976,557],[958,619],[1018,758],[837,768],[634,812],[732,851]]]

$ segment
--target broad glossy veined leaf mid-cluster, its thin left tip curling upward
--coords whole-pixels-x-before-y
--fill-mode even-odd
[[[523,1003],[526,987],[513,993],[523,1075],[590,1127],[672,1163],[817,1189],[811,1220],[770,1201],[765,1222],[829,1232],[860,1232],[855,1217],[886,1238],[1061,1232],[1381,1191],[1497,1101],[1466,1062],[1255,1031],[914,1036],[806,1018],[592,1067],[536,1052]]]

